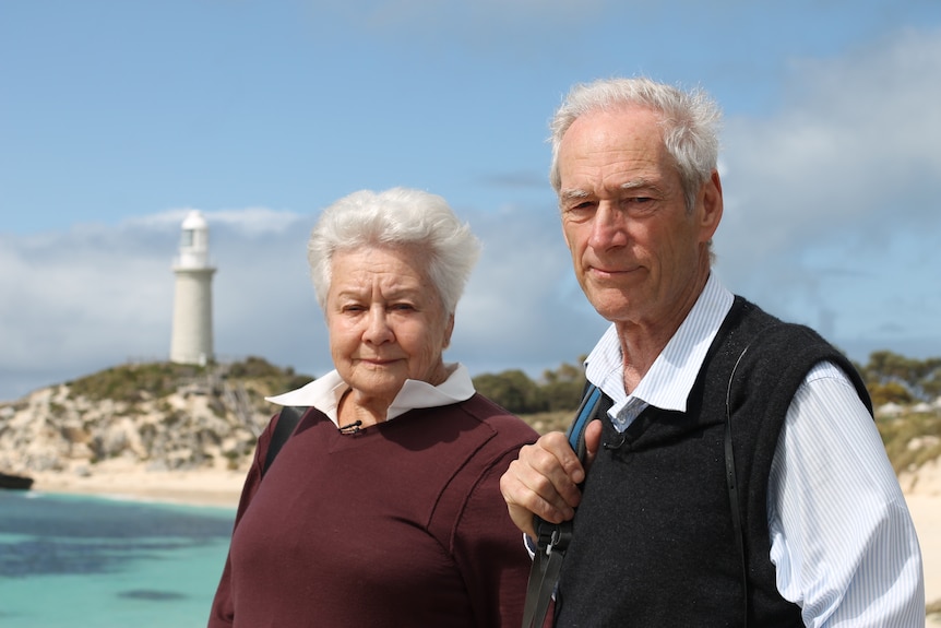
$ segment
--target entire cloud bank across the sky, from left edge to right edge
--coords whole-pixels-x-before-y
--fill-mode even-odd
[[[941,355],[939,75],[941,33],[902,32],[851,56],[794,60],[773,115],[726,121],[716,271],[730,288],[855,359],[878,348]],[[490,179],[520,177],[529,175]],[[305,252],[314,216],[200,209],[218,268],[217,355],[329,370]],[[186,211],[0,235],[0,399],[128,359],[166,359]],[[537,377],[587,353],[606,322],[572,277],[551,200],[458,213],[485,249],[446,357],[473,372]]]

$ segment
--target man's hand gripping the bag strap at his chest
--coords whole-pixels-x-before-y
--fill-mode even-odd
[[[561,431],[546,434],[520,450],[520,458],[500,478],[500,490],[516,528],[535,538],[533,516],[551,523],[575,516],[574,509],[582,500],[577,485],[585,479],[600,440],[601,424],[593,420],[585,428],[588,454],[584,467]]]

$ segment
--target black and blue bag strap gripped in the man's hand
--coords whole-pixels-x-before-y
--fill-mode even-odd
[[[585,462],[587,448],[585,447],[585,428],[596,418],[597,410],[606,404],[599,404],[601,391],[591,384],[582,403],[575,413],[575,419],[569,426],[565,436],[569,445],[579,455],[582,463]],[[529,568],[529,582],[526,585],[526,604],[523,607],[523,628],[539,628],[546,620],[549,611],[549,601],[552,591],[559,581],[559,571],[562,569],[562,559],[565,549],[572,540],[572,522],[549,523],[539,517],[534,517],[536,528],[536,550],[533,556],[533,566]]]

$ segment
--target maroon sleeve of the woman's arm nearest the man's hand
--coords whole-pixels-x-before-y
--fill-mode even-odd
[[[481,627],[523,621],[531,560],[500,494],[500,476],[515,459],[516,449],[484,471],[455,524],[455,561]]]

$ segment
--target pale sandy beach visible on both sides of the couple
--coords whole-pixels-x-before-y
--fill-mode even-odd
[[[146,472],[133,467],[98,469],[81,476],[61,473],[35,474],[34,489],[45,493],[81,493],[130,499],[171,501],[194,506],[238,505],[245,472],[177,471]],[[908,509],[918,531],[925,560],[926,601],[941,604],[941,465],[922,466],[917,476],[900,477]],[[941,627],[941,613],[927,620]]]

